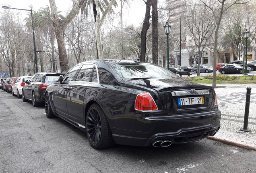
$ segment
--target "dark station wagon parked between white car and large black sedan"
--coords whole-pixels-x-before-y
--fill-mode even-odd
[[[29,81],[25,81],[26,85],[22,89],[22,101],[32,101],[34,107],[38,107],[40,103],[44,103],[45,90],[49,84],[58,82],[60,75],[65,73],[55,72],[37,72]],[[63,105],[64,106],[64,105]]]

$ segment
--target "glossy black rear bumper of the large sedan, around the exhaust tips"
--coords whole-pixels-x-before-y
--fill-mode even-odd
[[[181,119],[151,119],[135,123],[136,131],[111,128],[117,144],[150,146],[157,141],[169,141],[171,144],[189,143],[215,135],[221,127],[221,112],[212,111],[204,116],[191,116]]]

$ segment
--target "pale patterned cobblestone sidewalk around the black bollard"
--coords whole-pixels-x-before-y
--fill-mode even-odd
[[[250,132],[240,130],[244,127],[247,87],[252,88],[248,119]],[[256,150],[256,84],[217,84],[215,92],[221,111],[221,129],[209,138]]]

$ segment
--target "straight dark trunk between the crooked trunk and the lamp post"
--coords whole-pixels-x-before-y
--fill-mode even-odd
[[[152,0],[152,59],[158,64],[158,11],[157,0]]]

